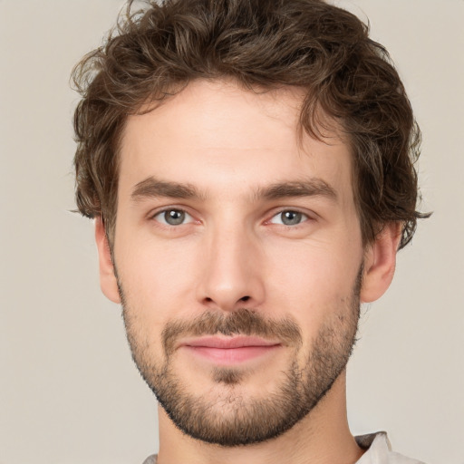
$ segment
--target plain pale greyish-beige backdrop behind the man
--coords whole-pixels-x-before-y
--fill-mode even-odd
[[[423,210],[397,275],[363,308],[353,433],[388,430],[429,464],[464,452],[464,1],[339,1],[391,51],[424,134]],[[73,205],[73,67],[118,0],[0,0],[0,463],[139,464],[156,402],[101,295],[92,222]]]

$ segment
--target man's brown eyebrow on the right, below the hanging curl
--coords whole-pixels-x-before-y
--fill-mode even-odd
[[[324,179],[279,182],[256,192],[257,198],[279,199],[287,197],[326,197],[335,201],[337,194]]]

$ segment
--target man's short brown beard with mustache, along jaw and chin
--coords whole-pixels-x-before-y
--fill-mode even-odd
[[[362,268],[352,296],[336,311],[328,308],[332,315],[315,334],[307,353],[302,353],[302,331],[292,318],[270,319],[244,307],[229,314],[208,311],[189,321],[169,322],[161,334],[164,360],[155,360],[150,340],[140,340],[140,321],[120,283],[132,359],[170,420],[189,437],[225,447],[274,439],[314,410],[344,371],[356,340],[361,278]],[[275,372],[279,382],[274,391],[264,391],[259,398],[247,395],[244,384],[253,372],[233,366],[212,369],[211,390],[191,391],[189,380],[175,369],[176,342],[183,336],[215,334],[276,338],[291,348],[294,355],[285,370]]]

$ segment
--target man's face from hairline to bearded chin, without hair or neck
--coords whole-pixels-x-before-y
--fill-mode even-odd
[[[353,347],[362,266],[375,260],[349,149],[298,140],[301,99],[198,81],[124,133],[115,273],[106,257],[102,288],[121,299],[143,378],[199,440],[289,430]]]

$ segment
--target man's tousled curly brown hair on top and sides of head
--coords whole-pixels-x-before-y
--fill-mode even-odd
[[[420,129],[389,54],[354,14],[323,0],[130,1],[102,47],[73,70],[82,94],[74,113],[76,203],[113,237],[119,145],[125,122],[194,79],[233,78],[244,88],[289,85],[305,92],[300,129],[318,138],[323,113],[353,154],[362,239],[402,224],[411,241],[419,197],[414,163]]]

